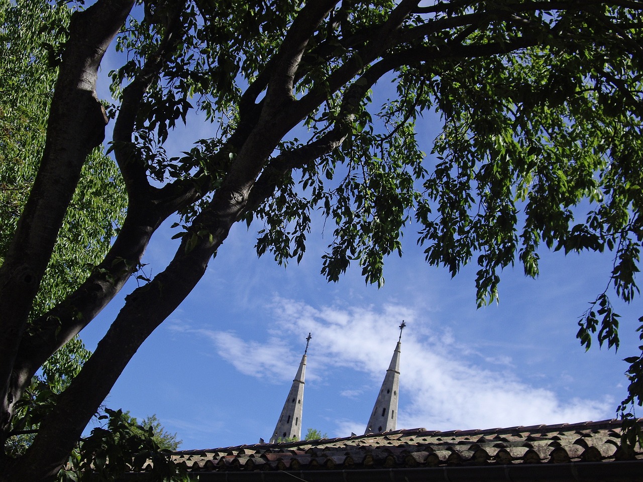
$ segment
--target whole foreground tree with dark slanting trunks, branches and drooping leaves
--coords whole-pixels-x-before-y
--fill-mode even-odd
[[[381,284],[385,257],[401,253],[401,232],[413,222],[428,263],[454,275],[478,263],[480,304],[496,299],[504,267],[520,262],[536,276],[543,247],[610,251],[616,295],[638,294],[638,1],[134,3],[96,0],[77,10],[66,42],[53,49],[62,62],[42,161],[0,268],[3,433],[38,367],[109,303],[175,213],[181,245],[153,279],[138,276],[143,285],[29,449],[0,462],[0,480],[57,472],[134,352],[194,288],[236,222],[257,226],[258,254],[287,263],[302,258],[311,213],[321,210],[335,226],[321,269],[331,281],[354,263]],[[127,56],[112,76],[118,105],[105,116],[96,72],[114,37]],[[391,80],[394,91],[383,88]],[[425,157],[414,123],[432,110],[442,133]],[[212,138],[167,156],[172,129],[194,111],[212,122]],[[30,323],[64,213],[108,118],[127,215],[89,276]],[[608,290],[594,305],[580,321],[581,342],[617,347]],[[624,409],[642,402],[641,360],[628,359]]]

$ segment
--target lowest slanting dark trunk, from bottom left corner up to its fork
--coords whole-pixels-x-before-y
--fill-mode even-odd
[[[210,231],[212,240],[201,237],[193,249],[187,249],[186,235],[167,269],[125,298],[125,306],[78,376],[60,395],[28,451],[0,475],[0,481],[47,481],[57,474],[139,346],[201,280],[210,256],[239,218],[247,195],[242,199],[215,197],[210,209],[195,220]]]

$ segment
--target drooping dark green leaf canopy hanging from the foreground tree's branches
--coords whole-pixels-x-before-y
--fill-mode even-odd
[[[455,275],[478,263],[476,296],[485,305],[498,299],[505,267],[519,262],[538,276],[542,247],[608,251],[613,272],[578,337],[586,348],[593,337],[618,348],[608,292],[628,303],[638,295],[643,237],[640,4],[435,2],[397,19],[406,6],[341,2],[307,31],[288,102],[309,108],[280,132],[301,121],[307,131],[296,135],[307,139],[289,134],[271,146],[257,184],[278,175],[274,191],[240,215],[259,227],[257,253],[300,261],[321,210],[335,226],[322,274],[338,281],[357,263],[367,283],[381,285],[385,257],[402,253],[412,224],[430,265]],[[191,223],[233,172],[236,137],[269,108],[270,73],[305,10],[196,1],[179,15],[183,37],[141,99],[134,144],[159,183],[210,180],[203,199],[180,211],[185,249],[208,235]],[[112,73],[115,93],[144,71],[170,28],[154,19],[171,13],[167,3],[147,3],[143,19],[130,19],[117,44],[130,60]],[[379,37],[394,21],[390,39]],[[192,111],[215,125],[215,136],[168,159],[163,143]],[[442,132],[426,157],[415,122],[433,111]],[[321,152],[307,157],[314,148]],[[641,360],[628,358],[633,382],[622,410],[641,403]]]

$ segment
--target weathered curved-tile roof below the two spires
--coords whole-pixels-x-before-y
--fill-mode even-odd
[[[483,466],[522,466],[523,469],[532,467],[533,471],[536,469],[534,465],[554,464],[573,466],[575,469],[570,480],[583,479],[577,476],[579,468],[602,466],[607,469],[617,465],[634,467],[633,473],[640,474],[619,480],[643,480],[643,451],[638,447],[634,450],[621,447],[620,420],[448,432],[423,428],[397,430],[345,438],[180,451],[175,452],[173,458],[185,464],[190,472],[199,474],[237,472],[241,476],[244,472],[288,472],[305,480],[320,480],[311,478],[309,471],[340,471],[348,474],[349,471],[361,472],[364,469],[426,469],[424,472],[436,472],[430,470],[433,468],[439,469],[437,472],[440,474],[446,474],[446,469],[452,474],[464,474],[464,470],[450,468],[478,467],[476,470],[479,474]],[[620,463],[624,461],[630,462]],[[592,469],[591,474],[597,474],[595,470]],[[417,470],[412,472],[416,473]],[[303,477],[304,473],[308,475]],[[370,474],[374,476],[375,472]],[[230,480],[241,480],[238,476]],[[346,475],[343,476],[343,480],[348,479]],[[392,479],[392,476],[387,478]],[[455,482],[457,479],[440,476],[440,480]]]

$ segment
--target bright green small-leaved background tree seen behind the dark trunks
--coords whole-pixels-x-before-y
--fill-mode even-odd
[[[59,44],[70,17],[71,10],[51,6],[45,0],[0,1],[0,261],[38,170]],[[91,152],[80,173],[71,209],[62,220],[28,323],[60,303],[78,287],[79,280],[86,278],[89,266],[104,257],[127,203],[122,188],[114,162],[101,150]],[[96,193],[101,193],[100,202]],[[26,450],[56,396],[77,375],[89,354],[82,342],[73,338],[32,376],[5,427],[3,442],[8,454],[17,456]]]

